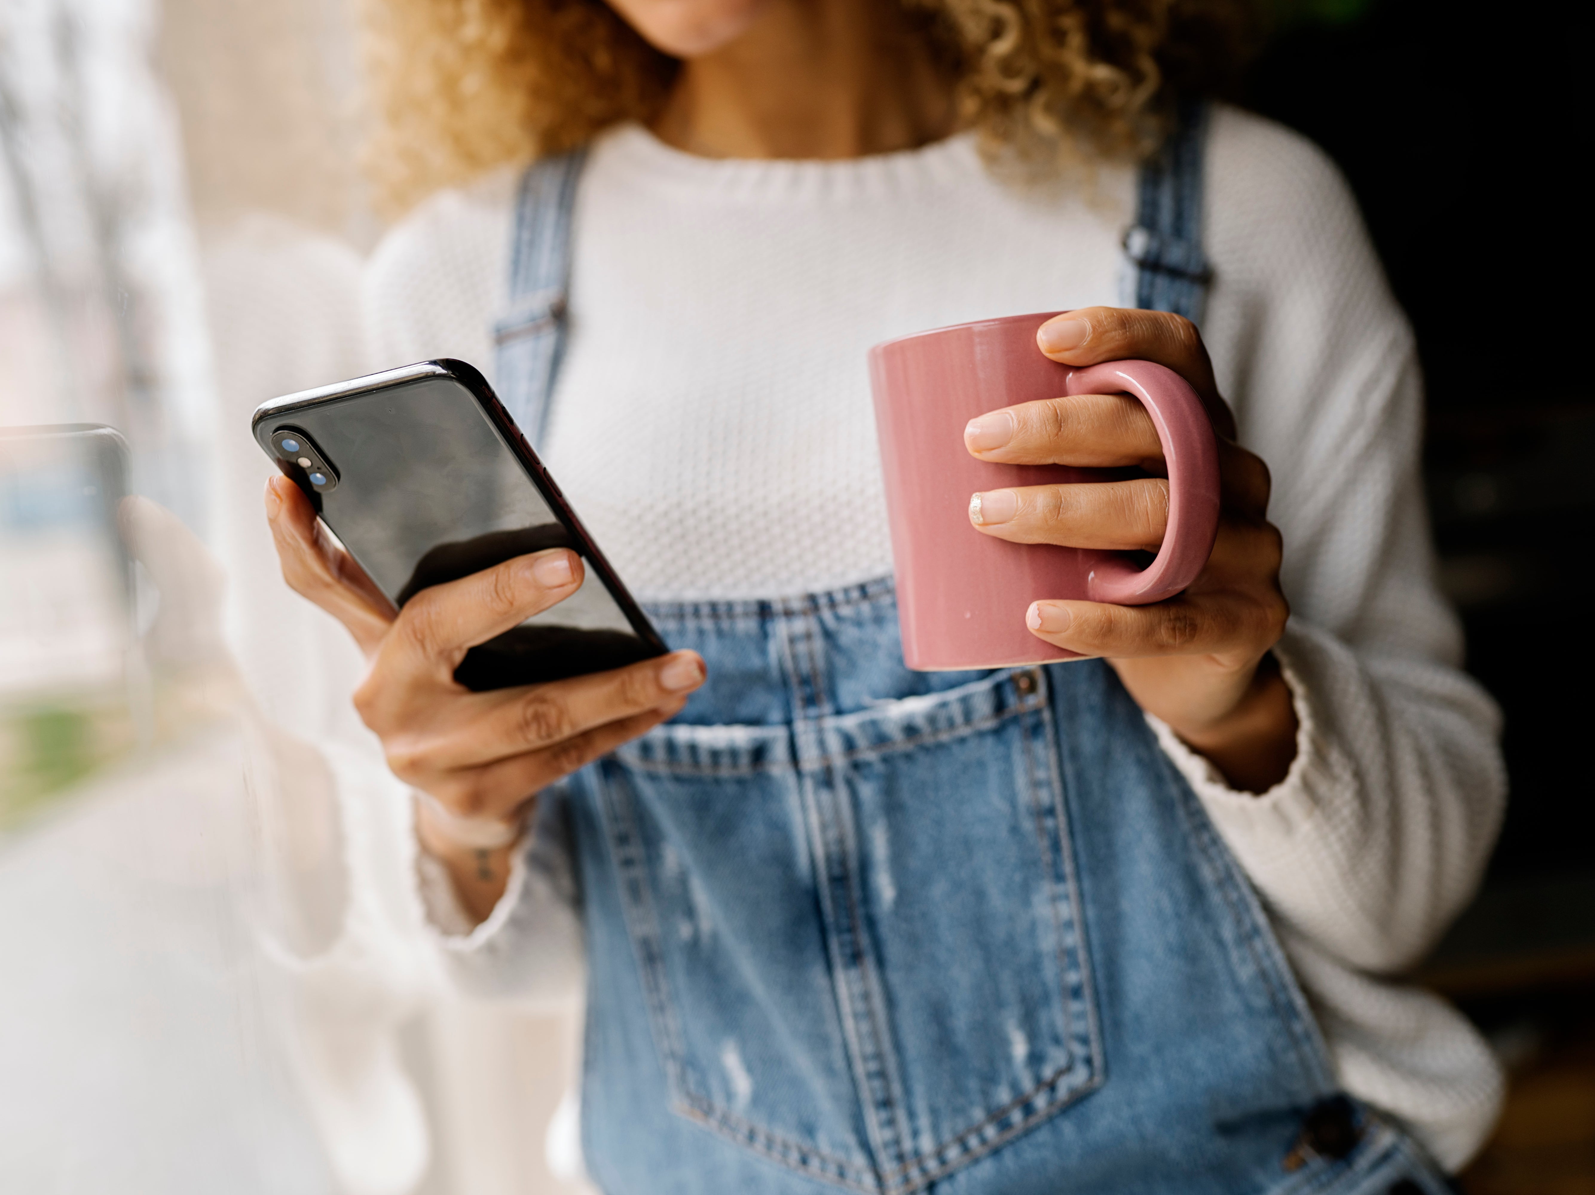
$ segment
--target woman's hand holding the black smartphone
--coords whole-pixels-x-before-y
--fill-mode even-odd
[[[273,477],[265,503],[284,579],[365,653],[354,708],[381,739],[394,775],[434,798],[418,804],[421,841],[450,865],[472,911],[491,909],[502,893],[509,855],[507,841],[475,844],[494,826],[518,823],[541,788],[671,718],[703,683],[702,657],[676,651],[612,672],[472,692],[455,681],[466,651],[574,594],[581,557],[557,547],[506,560],[421,590],[396,611],[293,482]]]

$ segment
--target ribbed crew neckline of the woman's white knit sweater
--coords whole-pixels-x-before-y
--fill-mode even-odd
[[[742,201],[887,198],[927,185],[967,180],[981,171],[973,131],[912,150],[863,158],[705,158],[667,145],[627,121],[605,132],[595,155],[640,183]]]

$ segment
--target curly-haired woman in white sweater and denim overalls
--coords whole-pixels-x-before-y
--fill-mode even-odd
[[[380,359],[496,354],[678,651],[469,694],[464,649],[569,595],[574,555],[394,616],[292,485],[266,509],[370,659],[453,973],[523,991],[585,954],[606,1190],[1439,1192],[1487,1131],[1488,1051],[1383,978],[1469,897],[1504,787],[1431,579],[1412,341],[1311,147],[1176,107],[1225,16],[375,13],[396,190],[510,163],[378,250]],[[1155,606],[1035,601],[1086,662],[909,673],[863,353],[1059,308],[1038,353],[1160,361],[1215,413],[1212,558]],[[983,534],[1161,539],[1123,396],[965,444],[1150,474],[970,495]]]

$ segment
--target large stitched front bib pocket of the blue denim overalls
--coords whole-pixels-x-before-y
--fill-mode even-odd
[[[603,809],[683,1115],[908,1192],[1101,1082],[1043,673],[667,726]]]

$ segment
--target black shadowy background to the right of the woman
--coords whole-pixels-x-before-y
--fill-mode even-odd
[[[1509,1101],[1471,1193],[1595,1192],[1595,198],[1587,6],[1274,0],[1241,101],[1345,171],[1428,380],[1424,472],[1512,796],[1421,978]]]

